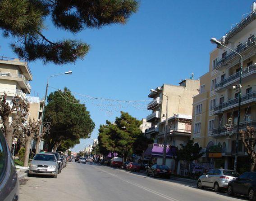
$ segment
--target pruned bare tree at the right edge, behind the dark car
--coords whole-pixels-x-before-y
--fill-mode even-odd
[[[245,147],[245,150],[250,157],[251,162],[251,171],[254,171],[255,165],[256,165],[256,151],[255,151],[255,145],[256,145],[256,138],[255,138],[255,128],[247,126],[246,131],[239,131],[241,135],[242,143]]]

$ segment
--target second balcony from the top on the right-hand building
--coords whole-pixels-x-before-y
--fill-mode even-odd
[[[238,53],[245,53],[246,50],[255,47],[256,45],[256,36],[254,36],[252,39],[247,40],[245,43],[241,44],[238,48],[234,49],[234,51]],[[227,65],[228,62],[230,62],[233,58],[238,57],[238,54],[235,52],[229,52],[224,58],[220,59],[217,62],[216,69],[217,70],[223,70]]]

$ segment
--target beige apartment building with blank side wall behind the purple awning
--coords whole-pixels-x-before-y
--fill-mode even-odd
[[[156,87],[148,97],[153,100],[147,105],[147,109],[152,110],[152,114],[146,117],[147,122],[151,122],[151,127],[146,129],[145,134],[153,138],[155,144],[148,149],[155,149],[156,146],[163,147],[166,121],[166,97],[168,96],[168,131],[166,165],[174,169],[172,159],[172,146],[185,144],[190,139],[192,123],[192,103],[193,96],[199,92],[199,80],[184,79],[179,85],[164,84]],[[147,157],[151,157],[154,162],[162,164],[163,148],[159,153],[146,150]]]

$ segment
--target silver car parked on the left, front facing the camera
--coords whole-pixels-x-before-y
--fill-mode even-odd
[[[57,178],[58,161],[53,153],[37,153],[29,167],[29,175],[52,175]]]

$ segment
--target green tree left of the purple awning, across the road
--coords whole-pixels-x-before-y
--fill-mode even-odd
[[[141,121],[130,114],[122,112],[121,116],[115,119],[114,123],[109,121],[101,125],[99,129],[99,147],[103,154],[118,153],[126,161],[133,151],[133,143],[141,135]]]

